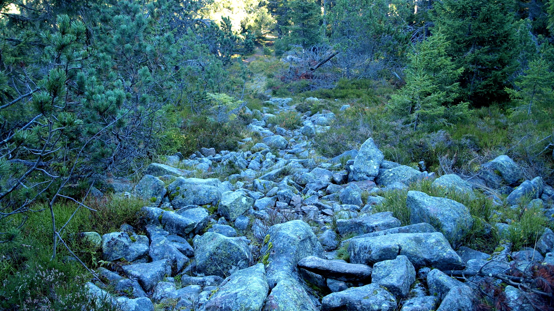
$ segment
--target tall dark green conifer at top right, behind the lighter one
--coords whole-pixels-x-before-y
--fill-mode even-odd
[[[514,2],[444,0],[435,6],[435,27],[450,42],[447,53],[464,68],[465,99],[480,106],[506,97],[504,89],[519,68]]]

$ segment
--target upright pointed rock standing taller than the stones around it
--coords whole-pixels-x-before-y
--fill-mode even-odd
[[[353,180],[373,180],[379,174],[383,153],[375,146],[373,138],[368,138],[360,147],[352,166]]]

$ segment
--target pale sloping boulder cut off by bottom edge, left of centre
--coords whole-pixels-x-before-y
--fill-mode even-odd
[[[259,311],[268,295],[269,285],[262,263],[234,272],[202,305],[202,311]]]

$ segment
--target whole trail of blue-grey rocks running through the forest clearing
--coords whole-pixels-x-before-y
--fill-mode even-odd
[[[387,191],[419,180],[432,179],[434,185],[469,195],[474,184],[457,175],[435,179],[434,173],[384,160],[372,138],[360,150],[317,157],[311,139],[326,130],[334,113],[305,113],[302,127],[290,131],[269,122],[275,114],[295,112],[291,99],[271,102],[278,111],[262,113],[263,120],[248,125],[261,142],[244,139],[244,147],[252,146],[247,151],[204,148],[188,158],[178,154],[167,163],[151,164],[134,188],[116,183],[125,195],[152,204],[138,215],[143,228],[124,226],[101,238],[85,232],[98,242],[105,261],[128,263],[97,271],[116,296],[100,282],[87,284],[91,296],[111,299],[125,311],[153,310],[154,304],[203,311],[392,311],[398,305],[403,311],[466,311],[476,308],[480,282],[514,262],[524,271],[533,262],[554,264],[550,230],[538,237],[536,251],[510,252],[510,243],[493,254],[454,250],[450,242],[460,240],[473,219],[466,206],[450,199],[409,191],[408,226],[401,226],[392,212],[373,212]],[[193,177],[229,165],[239,173],[223,182]],[[481,170],[481,180],[472,182],[492,188],[523,177],[504,155]],[[543,200],[554,194],[540,177],[501,190],[510,193],[510,204],[532,196],[531,203],[544,208]],[[500,204],[500,198],[490,199]],[[146,236],[137,235],[139,230]],[[341,242],[345,237],[350,239]],[[339,248],[349,262],[336,259]],[[465,282],[450,274],[464,274],[458,279]],[[506,305],[533,310],[525,295],[507,286]]]

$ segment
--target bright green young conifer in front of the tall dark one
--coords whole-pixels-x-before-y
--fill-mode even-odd
[[[421,123],[448,123],[468,113],[468,103],[456,103],[459,82],[455,81],[463,68],[453,63],[447,47],[440,32],[416,44],[408,56],[406,85],[389,101],[389,107],[411,118],[414,131]]]

